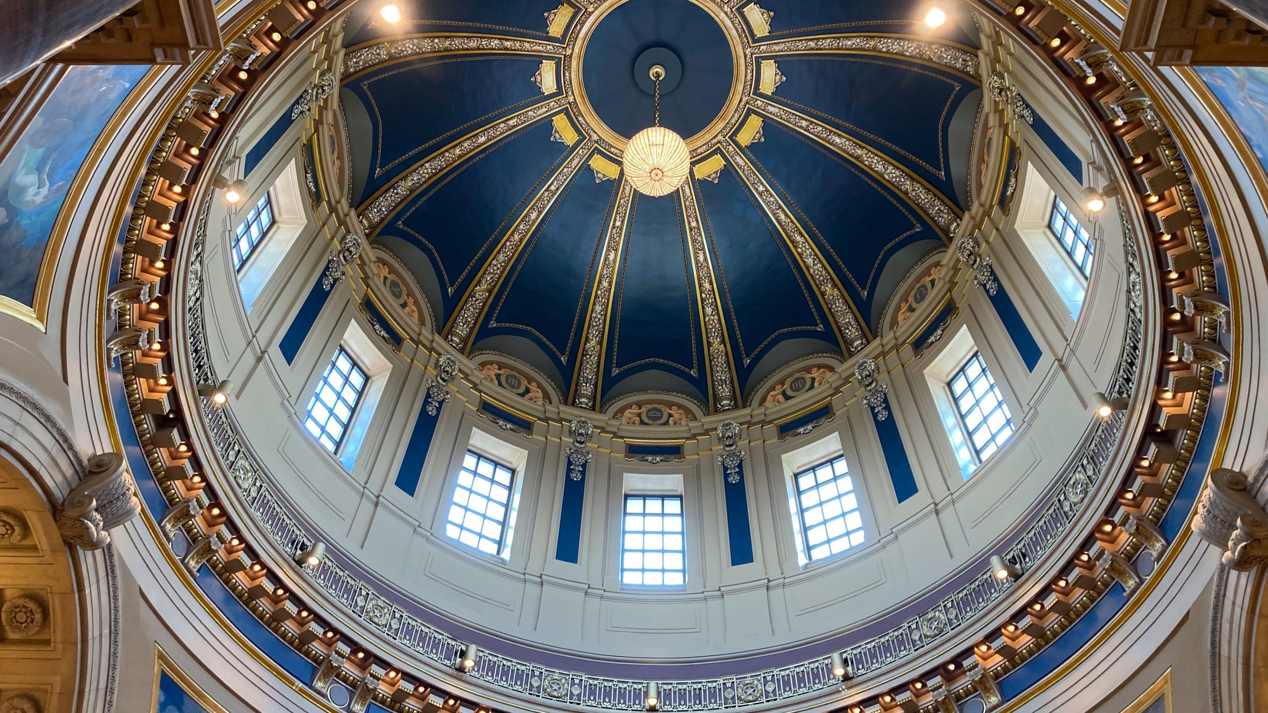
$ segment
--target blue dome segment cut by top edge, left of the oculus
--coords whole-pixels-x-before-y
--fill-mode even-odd
[[[388,24],[379,18],[378,4],[361,3],[347,22],[344,47],[399,34],[458,32],[547,38],[545,13],[559,0],[397,0],[401,22]],[[355,28],[355,29],[354,29]]]

